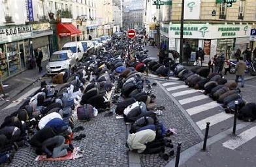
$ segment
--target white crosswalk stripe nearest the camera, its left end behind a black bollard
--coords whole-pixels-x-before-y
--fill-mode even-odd
[[[219,114],[215,114],[214,116],[209,116],[208,118],[205,118],[204,120],[200,120],[197,122],[197,125],[201,130],[206,128],[206,122],[210,122],[210,126],[215,125],[216,123],[223,122],[224,120],[227,120],[231,118],[232,114],[226,114],[225,112],[221,112]]]

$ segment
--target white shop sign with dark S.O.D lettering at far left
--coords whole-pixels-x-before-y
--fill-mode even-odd
[[[31,38],[32,33],[31,25],[0,27],[0,44]]]

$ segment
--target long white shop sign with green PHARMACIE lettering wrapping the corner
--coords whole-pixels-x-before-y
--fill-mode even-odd
[[[180,24],[170,25],[169,38],[180,38]],[[184,38],[216,39],[249,37],[251,25],[185,24]]]

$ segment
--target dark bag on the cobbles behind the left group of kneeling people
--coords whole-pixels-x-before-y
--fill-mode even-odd
[[[91,118],[94,118],[92,105],[83,105],[78,107],[76,112],[78,120],[90,120]]]

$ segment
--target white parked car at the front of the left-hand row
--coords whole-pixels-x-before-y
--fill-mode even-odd
[[[48,75],[57,74],[61,71],[71,70],[76,65],[76,57],[69,51],[56,51],[49,58],[46,65]]]

